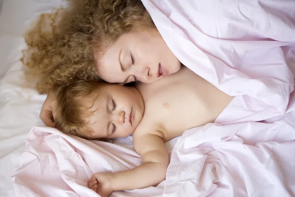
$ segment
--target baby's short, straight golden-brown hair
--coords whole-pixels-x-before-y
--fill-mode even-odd
[[[87,127],[89,118],[96,112],[91,107],[105,84],[107,83],[100,80],[78,80],[56,88],[58,111],[55,127],[68,135],[90,135],[92,131]]]

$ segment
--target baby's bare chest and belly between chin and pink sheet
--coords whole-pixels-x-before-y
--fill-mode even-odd
[[[166,140],[214,122],[231,99],[188,69],[138,89],[145,102],[144,128],[163,131]]]

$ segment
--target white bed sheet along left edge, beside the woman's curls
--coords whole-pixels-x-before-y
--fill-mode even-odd
[[[39,112],[45,96],[24,87],[22,33],[40,13],[49,12],[61,0],[0,0],[0,197],[14,197],[11,174],[33,126],[43,126]]]

